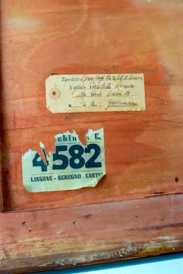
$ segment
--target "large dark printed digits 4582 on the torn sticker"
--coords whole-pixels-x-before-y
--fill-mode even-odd
[[[92,150],[94,150],[93,155],[90,156],[90,158],[85,162],[82,155],[84,153],[90,153]],[[62,151],[67,151],[66,145],[56,146],[56,153],[53,153],[53,170],[66,169],[67,166],[71,166],[72,169],[81,169],[83,166],[85,166],[86,169],[101,167],[101,162],[95,162],[101,153],[99,145],[89,144],[85,147],[85,149],[81,145],[72,145],[69,148],[69,155],[71,155],[71,158],[68,158],[66,155],[62,154]],[[43,151],[43,153],[45,154],[45,151]],[[32,160],[32,165],[40,166],[41,171],[47,171],[49,162],[47,161],[47,164],[45,164],[42,159],[38,160],[38,158],[40,158],[40,155],[36,153],[34,159]]]

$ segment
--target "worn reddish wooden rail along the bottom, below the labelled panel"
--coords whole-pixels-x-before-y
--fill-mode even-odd
[[[1,214],[0,273],[65,268],[183,249],[183,195]]]

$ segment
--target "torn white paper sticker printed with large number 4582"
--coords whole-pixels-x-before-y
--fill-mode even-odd
[[[96,186],[106,174],[103,128],[88,129],[86,146],[75,132],[57,134],[56,151],[42,155],[29,149],[22,156],[23,186],[29,192],[72,190]]]

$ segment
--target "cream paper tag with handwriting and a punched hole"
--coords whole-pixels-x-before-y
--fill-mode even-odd
[[[144,75],[51,75],[46,98],[54,113],[145,110]]]

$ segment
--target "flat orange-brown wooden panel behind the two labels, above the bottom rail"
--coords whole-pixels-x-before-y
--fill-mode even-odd
[[[182,8],[175,1],[4,0],[5,210],[182,192]],[[51,114],[50,73],[144,73],[145,112]],[[103,126],[107,175],[96,188],[28,193],[21,155],[54,136]],[[175,182],[178,177],[178,183]],[[87,196],[87,199],[85,199]]]

